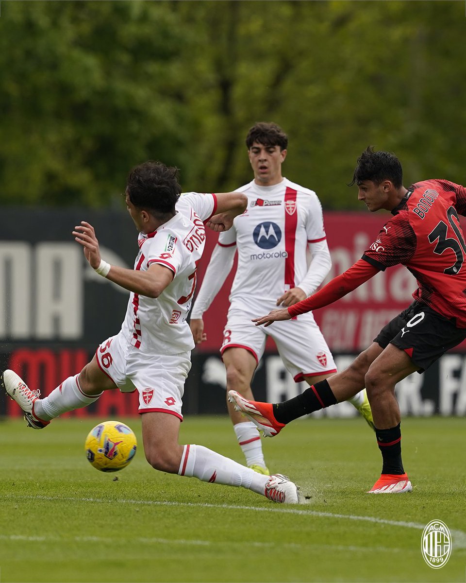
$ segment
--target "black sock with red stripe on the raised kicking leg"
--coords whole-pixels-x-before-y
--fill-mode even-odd
[[[315,385],[283,403],[273,405],[273,414],[279,423],[290,423],[303,415],[329,407],[337,402],[327,380],[316,382]]]

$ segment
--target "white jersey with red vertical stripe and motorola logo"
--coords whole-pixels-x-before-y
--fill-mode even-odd
[[[326,239],[322,206],[314,191],[287,178],[270,187],[252,181],[236,191],[248,197],[248,208],[218,237],[219,245],[238,250],[231,308],[266,314],[305,278],[308,243]]]

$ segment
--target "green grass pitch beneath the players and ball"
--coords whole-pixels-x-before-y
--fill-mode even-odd
[[[0,581],[261,582],[465,581],[465,420],[405,419],[410,494],[372,496],[375,437],[361,419],[303,419],[266,439],[272,472],[289,475],[307,504],[151,469],[139,417],[121,419],[139,451],[117,474],[97,472],[84,438],[100,419],[62,419],[43,431],[0,423]],[[181,442],[242,462],[230,422],[185,417]],[[118,480],[115,480],[118,477]],[[423,526],[446,523],[449,562],[421,554]]]

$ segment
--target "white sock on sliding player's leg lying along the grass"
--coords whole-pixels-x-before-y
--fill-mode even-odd
[[[270,477],[225,458],[203,445],[193,444],[185,445],[183,449],[178,475],[197,477],[202,482],[241,486],[262,495]]]

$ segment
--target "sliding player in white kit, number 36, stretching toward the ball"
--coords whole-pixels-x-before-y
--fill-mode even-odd
[[[84,221],[75,227],[73,236],[89,264],[130,291],[121,330],[101,343],[81,373],[43,399],[11,370],[2,374],[3,387],[34,429],[90,405],[105,390],[137,390],[144,453],[155,469],[242,486],[270,500],[296,504],[298,488],[287,477],[259,475],[202,445],[178,444],[183,387],[194,346],[186,318],[204,249],[204,223],[222,231],[246,207],[245,196],[235,192],[179,198],[180,192],[176,169],[164,164],[149,161],[129,174],[126,205],[139,230],[134,269],[103,261],[93,227]]]

